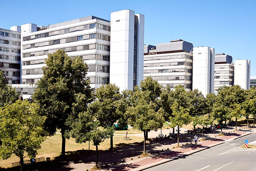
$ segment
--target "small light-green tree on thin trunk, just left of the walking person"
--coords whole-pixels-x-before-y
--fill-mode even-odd
[[[189,115],[189,109],[179,106],[177,102],[172,105],[173,117],[170,117],[171,127],[178,126],[178,145],[180,146],[180,128],[183,125],[187,125],[191,122],[191,116]]]

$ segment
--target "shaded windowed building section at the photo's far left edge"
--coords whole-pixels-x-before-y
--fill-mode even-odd
[[[20,84],[21,28],[0,29],[0,68],[10,78],[9,84]]]

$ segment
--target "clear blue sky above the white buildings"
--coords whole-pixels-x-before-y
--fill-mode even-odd
[[[111,12],[130,9],[145,15],[144,44],[183,39],[194,47],[210,46],[233,60],[251,60],[251,75],[256,75],[255,0],[13,0],[4,4],[3,29],[26,23],[46,26],[90,15],[110,20]]]

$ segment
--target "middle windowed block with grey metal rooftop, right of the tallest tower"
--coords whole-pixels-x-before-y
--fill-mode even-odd
[[[151,76],[164,88],[180,85],[192,90],[193,44],[181,39],[144,45],[144,79]]]

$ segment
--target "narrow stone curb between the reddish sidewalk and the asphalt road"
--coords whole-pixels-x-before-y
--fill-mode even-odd
[[[237,138],[241,138],[241,137],[246,136],[246,135],[250,135],[250,134],[252,134],[252,133],[254,133],[254,132],[250,132],[250,133],[248,133],[248,134],[243,134],[243,135],[241,135],[241,136],[235,137],[235,138],[232,139],[232,140],[235,140],[235,139],[237,139]],[[230,140],[230,141],[232,141],[232,140]],[[228,141],[228,142],[230,142],[230,141]],[[161,165],[161,164],[164,164],[164,163],[173,161],[173,160],[177,160],[177,159],[182,158],[182,157],[189,156],[189,155],[194,154],[194,153],[197,153],[197,152],[199,152],[199,151],[203,151],[203,150],[209,149],[209,148],[211,148],[211,147],[214,147],[214,146],[217,146],[217,145],[220,145],[220,144],[223,144],[223,143],[226,143],[226,142],[225,142],[225,141],[222,141],[222,142],[216,143],[216,144],[214,144],[214,145],[212,145],[212,146],[208,146],[208,147],[206,147],[206,148],[202,148],[202,149],[199,149],[199,150],[197,150],[197,151],[193,151],[193,152],[188,153],[188,154],[181,154],[181,155],[178,155],[178,156],[176,156],[176,157],[174,157],[174,158],[172,158],[172,159],[166,159],[166,160],[163,161],[163,162],[160,162],[160,163],[157,163],[157,164],[153,164],[153,165],[151,165],[151,166],[145,166],[145,167],[142,167],[142,168],[140,168],[140,169],[139,169],[139,168],[138,168],[138,169],[132,169],[132,171],[142,171],[142,170],[146,170],[146,169],[149,169],[149,168],[152,168],[152,167],[155,167],[155,166],[158,166],[158,165]]]

